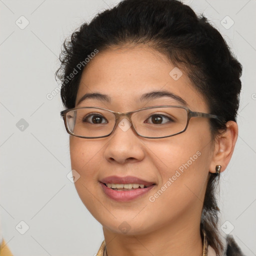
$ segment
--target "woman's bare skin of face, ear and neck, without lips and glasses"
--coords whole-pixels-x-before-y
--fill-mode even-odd
[[[174,80],[169,72],[174,65],[167,57],[147,45],[109,48],[96,54],[82,72],[75,106],[99,106],[118,112],[153,105],[180,105],[161,97],[137,102],[141,94],[167,90],[187,102],[192,111],[208,112],[202,95],[183,72]],[[101,92],[111,102],[86,99],[86,92]],[[208,118],[191,118],[187,130],[175,136],[150,139],[132,128],[118,126],[104,138],[70,136],[71,167],[80,177],[76,190],[84,205],[102,224],[107,255],[196,255],[202,253],[200,216],[209,172],[220,164],[226,168],[237,138],[237,124],[211,139]],[[158,197],[154,195],[183,163],[196,152],[200,156]],[[103,192],[99,180],[110,176],[132,175],[156,185],[132,201],[118,202]],[[123,233],[119,225],[125,224]]]

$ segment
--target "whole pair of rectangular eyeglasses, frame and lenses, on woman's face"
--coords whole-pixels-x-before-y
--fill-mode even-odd
[[[114,112],[102,107],[74,107],[60,112],[66,131],[81,138],[101,138],[109,136],[115,129],[120,117],[126,117],[118,126],[127,130],[130,126],[141,137],[164,138],[184,132],[191,117],[221,117],[194,112],[185,106],[150,106],[130,112]]]

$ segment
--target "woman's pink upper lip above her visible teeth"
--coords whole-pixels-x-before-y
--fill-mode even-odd
[[[149,186],[155,184],[154,182],[145,181],[143,179],[134,177],[134,176],[108,176],[100,180],[102,183],[112,183],[112,184],[143,184],[145,186]]]

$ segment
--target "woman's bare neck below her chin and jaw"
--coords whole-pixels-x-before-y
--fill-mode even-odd
[[[177,220],[144,234],[119,234],[104,227],[103,233],[107,256],[202,255],[203,239],[197,221],[187,225]]]

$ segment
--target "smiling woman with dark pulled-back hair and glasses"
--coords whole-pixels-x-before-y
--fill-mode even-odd
[[[97,255],[242,255],[215,187],[237,139],[242,67],[177,0],[124,0],[65,41],[56,72]]]

